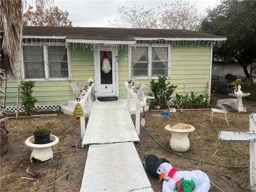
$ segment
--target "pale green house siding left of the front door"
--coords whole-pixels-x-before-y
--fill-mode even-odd
[[[90,48],[74,47],[70,44],[71,81],[40,81],[35,82],[33,96],[38,99],[36,105],[61,104],[66,105],[72,100],[72,82],[87,83],[89,78],[94,79],[93,51]],[[18,74],[18,62],[16,65]],[[8,80],[6,89],[6,105],[15,105],[17,102],[18,81]],[[4,88],[4,84],[3,87]],[[19,101],[20,102],[20,101]],[[20,104],[19,104],[20,105]]]

